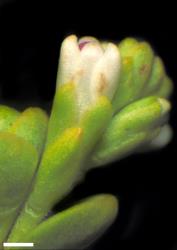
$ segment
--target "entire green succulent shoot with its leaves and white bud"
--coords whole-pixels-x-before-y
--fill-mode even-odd
[[[81,249],[98,238],[117,214],[112,195],[46,215],[88,169],[168,143],[171,92],[148,43],[66,38],[49,121],[39,108],[0,106],[1,244]]]

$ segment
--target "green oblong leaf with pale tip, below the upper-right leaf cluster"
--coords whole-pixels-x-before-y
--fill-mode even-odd
[[[170,104],[161,98],[147,97],[129,104],[114,116],[92,156],[92,165],[106,164],[133,153],[151,141],[167,120]]]

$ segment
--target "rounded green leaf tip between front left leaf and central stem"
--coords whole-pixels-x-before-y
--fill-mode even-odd
[[[28,108],[16,119],[9,132],[30,142],[41,153],[47,132],[48,117],[40,108]]]

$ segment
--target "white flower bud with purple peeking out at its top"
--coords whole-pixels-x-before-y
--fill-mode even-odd
[[[61,47],[57,86],[74,83],[78,112],[82,114],[98,97],[110,100],[117,88],[120,71],[120,54],[116,45],[105,48],[92,37],[77,41],[67,37]]]

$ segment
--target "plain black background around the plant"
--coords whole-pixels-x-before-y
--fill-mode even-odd
[[[170,7],[170,8],[169,8]],[[38,105],[50,110],[60,44],[64,37],[92,35],[119,41],[143,38],[177,78],[176,16],[173,6],[141,2],[0,2],[0,101],[20,110]],[[131,156],[91,171],[62,206],[95,193],[119,198],[119,216],[93,249],[175,248],[176,91],[172,96],[172,142],[150,154]],[[131,241],[130,241],[131,240]]]

